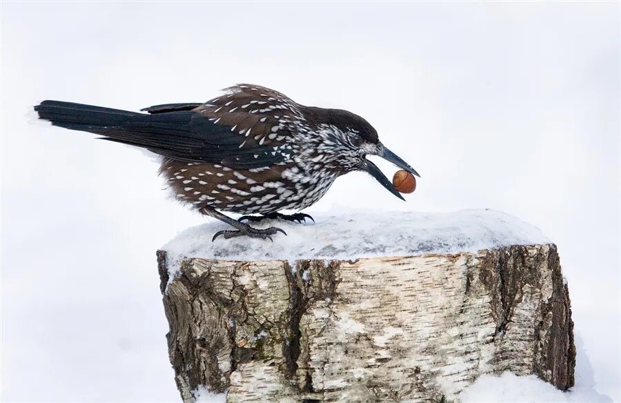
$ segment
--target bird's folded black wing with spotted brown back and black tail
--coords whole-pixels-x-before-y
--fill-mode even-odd
[[[206,104],[152,106],[146,108],[150,114],[62,101],[43,101],[34,109],[55,126],[92,132],[179,161],[240,169],[287,161],[288,124],[304,119],[297,104],[279,92],[244,84]]]

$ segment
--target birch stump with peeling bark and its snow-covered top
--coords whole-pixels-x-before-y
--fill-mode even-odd
[[[457,402],[482,374],[573,386],[556,246],[492,210],[315,216],[274,242],[190,228],[158,251],[184,402]],[[204,388],[204,389],[203,389]]]

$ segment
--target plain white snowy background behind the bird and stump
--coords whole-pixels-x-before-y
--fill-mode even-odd
[[[179,401],[155,250],[205,220],[141,153],[29,108],[138,110],[237,82],[362,115],[422,175],[407,203],[347,175],[308,213],[493,208],[541,228],[569,282],[577,389],[621,399],[619,3],[0,7],[1,400]],[[470,401],[541,387],[485,382]]]

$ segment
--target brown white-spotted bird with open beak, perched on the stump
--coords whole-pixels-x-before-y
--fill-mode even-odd
[[[204,103],[162,104],[141,112],[53,100],[34,110],[52,126],[159,155],[159,175],[175,199],[233,227],[218,231],[212,241],[286,235],[282,228],[255,228],[250,222],[313,219],[299,210],[321,199],[337,177],[354,171],[369,173],[404,199],[368,155],[420,176],[382,144],[362,117],[297,104],[252,84],[225,88]]]

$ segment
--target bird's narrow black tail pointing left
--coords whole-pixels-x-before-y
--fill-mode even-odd
[[[43,101],[34,107],[39,119],[54,126],[90,132],[106,126],[123,126],[128,121],[144,115],[128,110],[103,108],[63,101]]]

